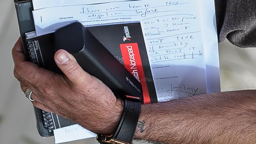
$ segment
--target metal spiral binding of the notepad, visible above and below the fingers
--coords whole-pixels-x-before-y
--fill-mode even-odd
[[[27,46],[28,46],[28,53],[30,55],[31,61],[35,64],[38,64],[37,56],[35,54],[36,53],[35,48],[33,46],[33,42],[32,41],[27,41]],[[52,120],[52,113],[42,111],[42,116],[43,116],[43,126],[46,129],[48,129],[50,132],[52,132],[54,130],[54,123],[53,123],[53,120]]]

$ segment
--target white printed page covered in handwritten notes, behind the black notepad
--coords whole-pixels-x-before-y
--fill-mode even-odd
[[[138,0],[33,11],[37,34],[52,24],[141,21],[159,102],[207,92],[200,0]],[[54,13],[54,15],[52,15]]]

